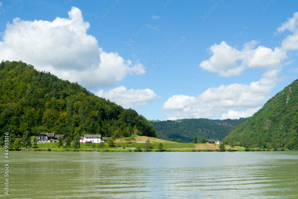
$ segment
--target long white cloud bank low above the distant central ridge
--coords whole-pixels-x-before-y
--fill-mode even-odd
[[[167,119],[249,117],[270,97],[271,89],[280,81],[278,72],[268,71],[259,81],[249,85],[235,83],[212,87],[196,97],[173,95],[164,102],[162,109],[173,110]]]

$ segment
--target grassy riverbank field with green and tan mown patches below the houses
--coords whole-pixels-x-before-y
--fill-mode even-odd
[[[219,145],[216,144],[193,144],[193,143],[178,143],[178,142],[171,142],[167,140],[161,140],[154,137],[145,137],[145,136],[138,136],[133,135],[135,140],[133,142],[125,142],[125,138],[119,138],[115,140],[114,147],[108,147],[107,144],[104,144],[103,148],[98,148],[99,144],[96,144],[95,148],[92,148],[90,144],[81,144],[79,149],[64,148],[57,146],[56,143],[38,143],[38,148],[32,147],[22,147],[21,150],[34,150],[34,151],[134,151],[134,149],[125,149],[125,148],[140,148],[144,151],[144,143],[137,143],[137,142],[145,142],[148,138],[150,139],[150,146],[152,148],[151,151],[157,151],[158,145],[160,142],[163,144],[163,148],[165,151],[218,151]],[[122,149],[119,149],[119,148]],[[225,145],[226,150],[232,150],[231,147]],[[0,150],[3,150],[0,148]],[[233,151],[244,151],[244,147],[236,146],[233,148]]]

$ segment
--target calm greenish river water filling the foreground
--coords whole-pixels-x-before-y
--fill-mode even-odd
[[[298,151],[9,155],[1,198],[298,198]]]

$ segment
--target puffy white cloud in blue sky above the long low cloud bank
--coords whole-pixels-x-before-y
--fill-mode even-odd
[[[241,51],[229,46],[225,41],[214,44],[208,50],[212,56],[200,63],[199,67],[219,76],[231,77],[240,75],[246,68],[266,68],[269,70],[282,67],[284,59],[288,58],[286,51],[276,47],[273,49],[258,46],[252,40],[244,45]]]

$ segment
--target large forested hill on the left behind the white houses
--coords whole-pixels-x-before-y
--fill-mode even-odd
[[[73,137],[139,135],[156,137],[153,126],[133,109],[95,96],[77,83],[19,62],[0,64],[0,137],[51,132]]]

